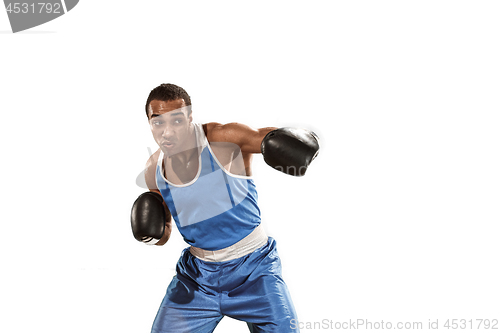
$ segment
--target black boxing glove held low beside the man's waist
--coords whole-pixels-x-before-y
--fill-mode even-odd
[[[168,212],[163,198],[156,192],[141,194],[132,206],[130,220],[135,239],[148,245],[155,245],[163,237]]]

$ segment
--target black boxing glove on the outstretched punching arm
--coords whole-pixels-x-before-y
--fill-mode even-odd
[[[283,127],[267,133],[260,146],[264,161],[276,170],[303,176],[319,152],[319,139],[311,131]]]

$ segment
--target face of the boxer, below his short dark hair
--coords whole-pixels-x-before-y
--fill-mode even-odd
[[[153,137],[163,153],[174,155],[188,149],[193,118],[188,116],[184,99],[153,100],[149,103],[148,117]]]

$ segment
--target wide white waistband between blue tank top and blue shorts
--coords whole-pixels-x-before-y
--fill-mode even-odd
[[[243,257],[266,245],[267,235],[261,224],[239,242],[216,251],[208,251],[191,246],[189,252],[204,261],[221,262]]]

